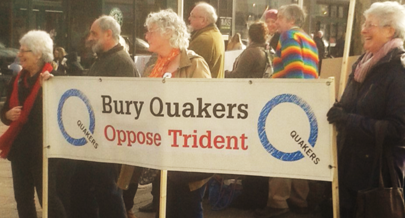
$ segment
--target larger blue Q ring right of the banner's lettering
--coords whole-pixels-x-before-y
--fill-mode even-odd
[[[257,131],[259,133],[260,142],[262,143],[263,147],[269,152],[273,157],[282,160],[282,161],[297,161],[304,157],[301,151],[295,151],[292,153],[285,153],[278,150],[274,145],[270,143],[266,134],[266,119],[269,116],[271,110],[275,108],[277,105],[282,103],[293,103],[298,105],[299,107],[304,110],[305,114],[308,117],[309,124],[311,127],[308,143],[314,147],[315,143],[318,138],[318,123],[315,117],[314,112],[312,111],[309,104],[304,101],[302,98],[298,97],[294,94],[281,94],[277,95],[273,99],[271,99],[267,104],[264,106],[262,111],[260,112],[259,121],[257,123]]]

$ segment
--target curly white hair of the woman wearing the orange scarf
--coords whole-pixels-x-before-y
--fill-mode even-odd
[[[144,26],[150,28],[153,25],[157,26],[157,31],[161,35],[167,33],[168,30],[171,31],[172,35],[169,40],[171,47],[180,50],[188,48],[190,33],[187,31],[186,23],[172,9],[150,13]]]

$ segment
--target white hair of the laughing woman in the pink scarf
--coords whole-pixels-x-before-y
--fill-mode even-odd
[[[374,16],[380,26],[395,29],[394,38],[405,40],[405,7],[397,1],[375,2],[364,11],[364,16]]]

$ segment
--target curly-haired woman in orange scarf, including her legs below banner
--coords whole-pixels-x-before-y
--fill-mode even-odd
[[[145,38],[149,43],[149,51],[158,54],[158,60],[145,70],[145,76],[211,78],[204,59],[194,51],[187,50],[190,38],[187,26],[171,9],[150,13],[146,18],[145,27],[148,29]],[[169,172],[166,218],[202,218],[204,184],[210,176]],[[158,187],[154,185],[153,188]]]

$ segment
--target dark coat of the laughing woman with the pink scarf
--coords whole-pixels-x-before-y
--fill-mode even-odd
[[[390,51],[370,69],[363,83],[354,80],[354,69],[364,55],[353,65],[340,100],[349,118],[337,126],[339,184],[343,189],[368,188],[375,156],[374,128],[381,120],[388,121],[383,146],[393,151],[400,185],[404,184],[405,69],[400,59],[404,53],[403,48]],[[377,178],[373,181],[376,184]]]

